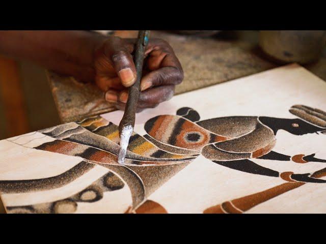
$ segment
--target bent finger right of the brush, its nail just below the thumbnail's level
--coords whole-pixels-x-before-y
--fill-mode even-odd
[[[141,91],[160,85],[177,85],[183,80],[182,70],[176,67],[164,67],[152,71],[141,80]]]

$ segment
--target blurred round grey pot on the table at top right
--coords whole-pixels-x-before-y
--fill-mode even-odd
[[[260,31],[259,45],[269,56],[285,63],[308,64],[319,59],[326,31]]]

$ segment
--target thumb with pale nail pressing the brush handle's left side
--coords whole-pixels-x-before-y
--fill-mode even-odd
[[[121,83],[125,87],[131,86],[137,76],[137,72],[129,52],[129,44],[120,38],[112,39],[104,49],[104,54],[117,72]]]

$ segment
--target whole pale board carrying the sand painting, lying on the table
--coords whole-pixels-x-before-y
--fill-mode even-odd
[[[316,116],[321,118],[326,111],[326,82],[294,64],[178,95],[155,109],[137,114],[134,129],[137,137],[132,147],[130,145],[124,166],[116,162],[118,141],[114,127],[119,125],[122,111],[67,124],[69,128],[62,127],[57,134],[49,129],[2,140],[1,198],[8,212],[326,212],[326,183],[322,182],[326,180],[323,171],[326,134],[320,133],[323,127],[318,124],[318,133],[295,135],[278,128],[276,135],[273,134],[273,128],[277,127],[273,121],[301,119],[289,111],[293,105],[319,109],[321,112]],[[184,107],[196,111],[199,121],[176,115]],[[156,121],[163,115],[169,116],[162,120],[161,128],[155,128]],[[146,129],[147,121],[156,116],[160,116],[156,124]],[[257,120],[256,128],[265,130],[255,140],[263,143],[269,138],[269,144],[258,145],[259,150],[243,151],[231,143],[232,148],[225,149],[230,147],[226,142],[231,137],[221,137],[218,132],[200,126],[200,121],[206,119],[232,116],[278,119],[272,119],[269,127],[264,125],[263,119]],[[174,130],[177,123],[173,121],[180,119],[185,122],[183,128]],[[303,123],[316,126],[311,121]],[[230,130],[239,126],[230,125]],[[178,136],[171,140],[191,126],[210,138],[209,142],[192,146],[193,141],[184,144]],[[292,126],[294,129],[299,126],[297,129],[301,130],[301,125],[293,122]],[[106,131],[100,132],[101,128]],[[177,153],[154,145],[145,139],[148,137],[142,137],[144,135],[176,148]],[[239,145],[245,148],[250,143],[254,143],[253,139]],[[222,153],[240,152],[249,156],[237,161],[236,168],[228,167],[231,159],[216,160],[215,156],[205,153],[203,148],[208,144],[216,145]],[[289,160],[267,159],[271,150],[288,156]],[[312,158],[307,158],[309,155],[313,155]],[[251,172],[251,166],[239,166],[248,161],[261,166],[262,171]],[[278,174],[262,174],[262,168]],[[62,177],[56,177],[58,175]],[[312,182],[315,179],[319,181]]]

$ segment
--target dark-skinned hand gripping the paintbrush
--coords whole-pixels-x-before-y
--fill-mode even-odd
[[[124,110],[128,88],[136,79],[132,52],[136,39],[107,38],[95,51],[95,82],[105,99]],[[141,93],[137,111],[154,108],[171,99],[183,79],[180,62],[172,47],[161,39],[150,39],[145,51]]]

